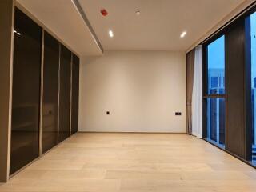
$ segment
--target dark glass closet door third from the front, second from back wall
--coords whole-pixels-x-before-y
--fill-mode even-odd
[[[70,70],[71,52],[61,46],[58,142],[70,136]]]

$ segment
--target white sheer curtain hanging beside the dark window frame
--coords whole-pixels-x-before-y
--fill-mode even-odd
[[[195,48],[192,92],[192,134],[202,138],[202,46]]]

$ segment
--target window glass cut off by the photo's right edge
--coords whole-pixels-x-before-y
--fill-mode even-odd
[[[256,166],[256,13],[246,18],[246,45],[250,47],[251,105],[252,105],[252,162]]]

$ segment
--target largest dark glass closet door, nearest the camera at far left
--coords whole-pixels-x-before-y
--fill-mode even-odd
[[[15,10],[10,174],[38,157],[42,29]]]

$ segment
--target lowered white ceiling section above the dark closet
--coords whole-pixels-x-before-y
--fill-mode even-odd
[[[18,0],[18,3],[80,56],[102,54],[71,0]]]

